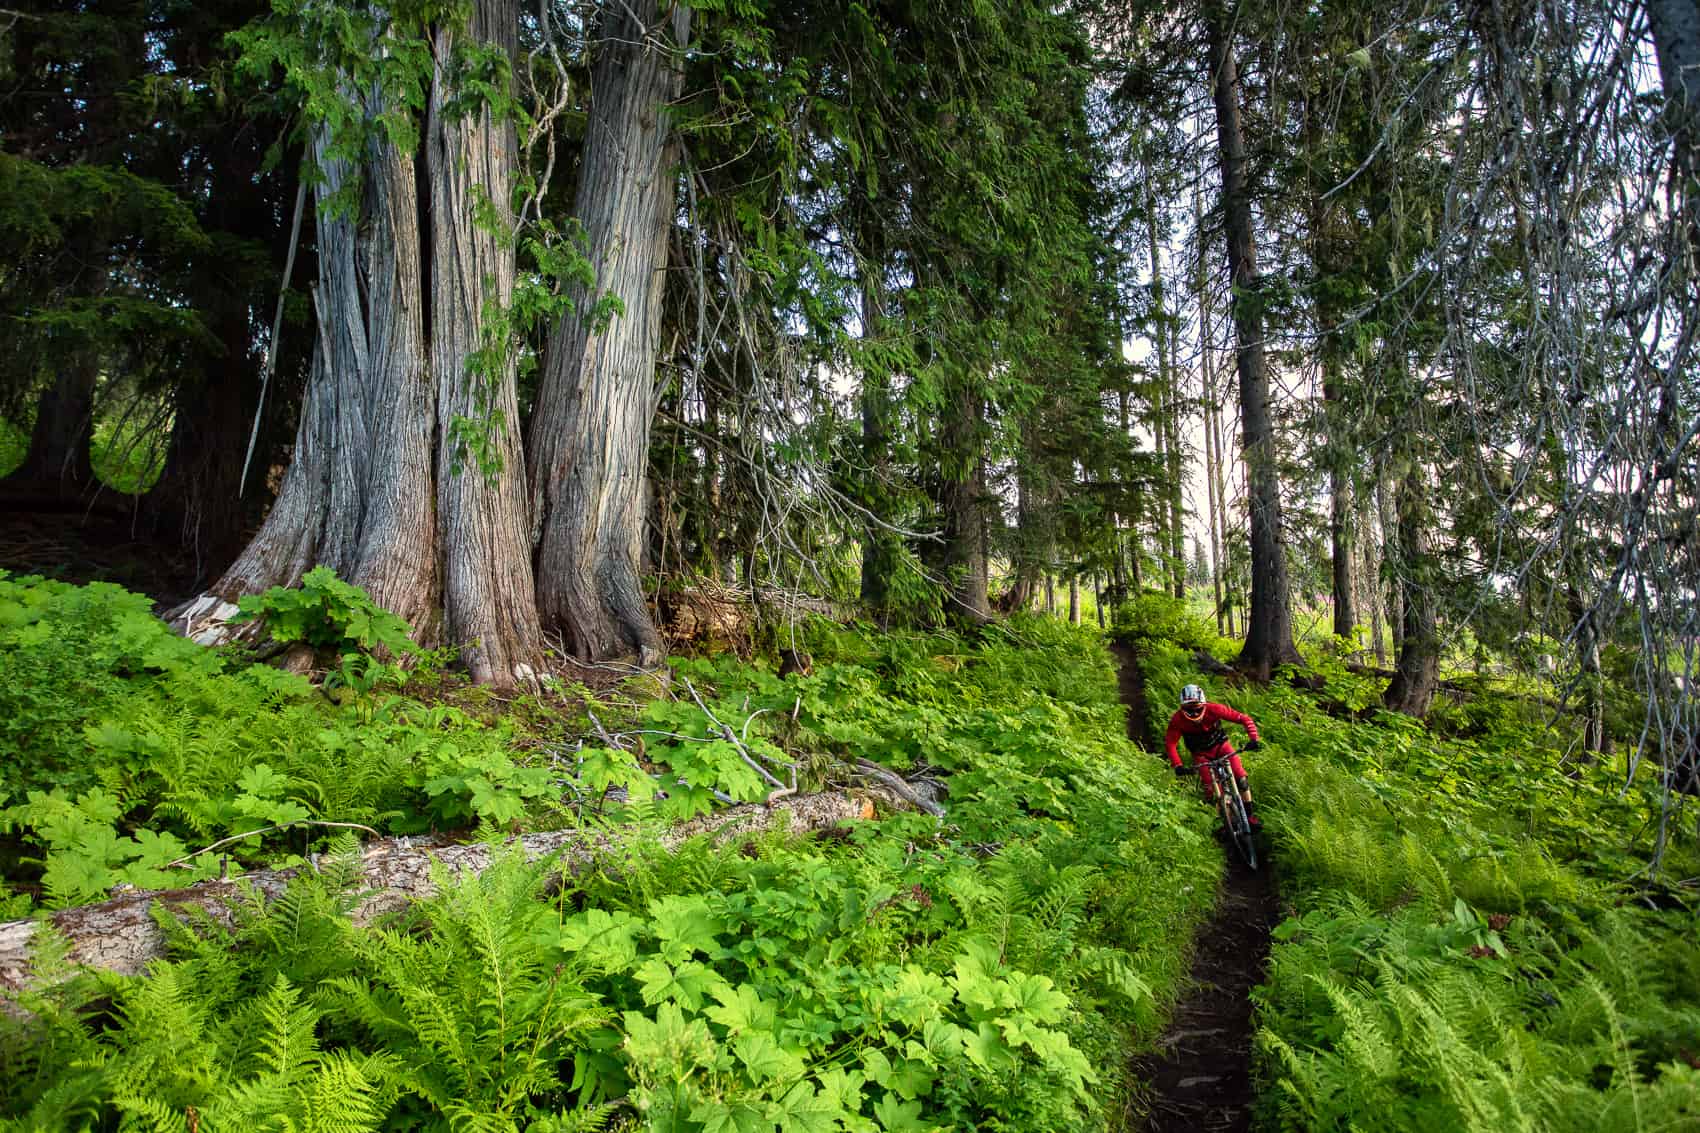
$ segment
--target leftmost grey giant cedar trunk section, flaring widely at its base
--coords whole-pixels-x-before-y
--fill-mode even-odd
[[[366,112],[377,117],[376,95]],[[411,157],[381,136],[355,175],[314,136],[318,340],[277,500],[258,534],[206,594],[173,612],[202,641],[252,633],[228,626],[243,594],[296,585],[314,565],[435,640],[440,592],[432,521],[435,398],[425,367],[418,197]],[[468,218],[468,223],[469,218]]]

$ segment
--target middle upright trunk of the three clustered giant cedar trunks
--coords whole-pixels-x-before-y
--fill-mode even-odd
[[[517,0],[478,0],[471,43],[513,58]],[[449,75],[461,43],[437,32],[435,82],[427,145],[432,160],[430,364],[437,381],[437,515],[444,531],[444,595],[449,636],[479,682],[512,684],[542,655],[534,606],[518,436],[517,342],[491,342],[488,316],[513,296],[513,122],[488,102],[452,109]],[[483,223],[469,223],[483,214]],[[481,361],[474,364],[474,356]],[[648,391],[648,388],[646,388]],[[483,436],[461,451],[457,432],[474,422]],[[461,434],[466,436],[466,434]],[[476,451],[478,447],[483,451]]]

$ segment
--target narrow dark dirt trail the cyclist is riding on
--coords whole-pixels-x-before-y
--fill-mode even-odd
[[[1146,689],[1134,650],[1112,646],[1120,667],[1127,738],[1161,754],[1146,726]],[[1256,772],[1253,789],[1256,788]],[[1175,1004],[1156,1050],[1134,1060],[1149,1082],[1141,1099],[1149,1133],[1251,1130],[1251,988],[1263,978],[1270,929],[1280,922],[1270,863],[1248,869],[1227,854],[1227,876],[1210,920],[1198,927],[1190,988]],[[1136,1126],[1137,1128],[1137,1126]]]

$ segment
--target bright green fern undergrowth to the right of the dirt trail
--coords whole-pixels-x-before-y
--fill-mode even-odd
[[[1379,684],[1316,672],[1314,692],[1205,680],[1263,730],[1246,762],[1294,914],[1256,994],[1263,1124],[1697,1128],[1700,919],[1635,876],[1651,784],[1567,776],[1537,713],[1479,697],[1430,732],[1362,718]],[[1146,674],[1161,726],[1200,677],[1153,641]],[[1686,834],[1664,876],[1697,873]]]

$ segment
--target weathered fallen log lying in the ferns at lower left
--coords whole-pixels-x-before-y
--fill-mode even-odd
[[[874,801],[899,810],[908,805],[908,800],[896,791],[881,788],[858,789],[853,794],[845,791],[797,794],[772,806],[740,803],[668,827],[656,844],[673,851],[699,835],[724,840],[770,830],[777,825],[779,815],[789,815],[792,830],[824,830],[847,820],[872,818]],[[418,839],[379,839],[360,856],[360,883],[369,893],[355,908],[354,919],[357,924],[367,924],[430,897],[435,893],[434,866],[445,868],[450,876],[476,874],[490,866],[496,852],[512,845],[522,847],[530,861],[559,852],[570,869],[617,859],[632,849],[619,834],[598,830],[527,834],[500,844],[420,844]],[[197,908],[214,920],[231,924],[233,907],[245,903],[238,883],[252,886],[252,891],[270,903],[284,893],[298,873],[299,869],[258,869],[236,880],[202,881],[182,890],[126,893],[99,905],[61,908],[48,915],[46,922],[70,941],[73,965],[139,975],[165,954],[165,934],[151,915],[155,905],[178,917]],[[39,931],[37,920],[0,924],[0,994],[15,994],[34,982],[31,941]]]

